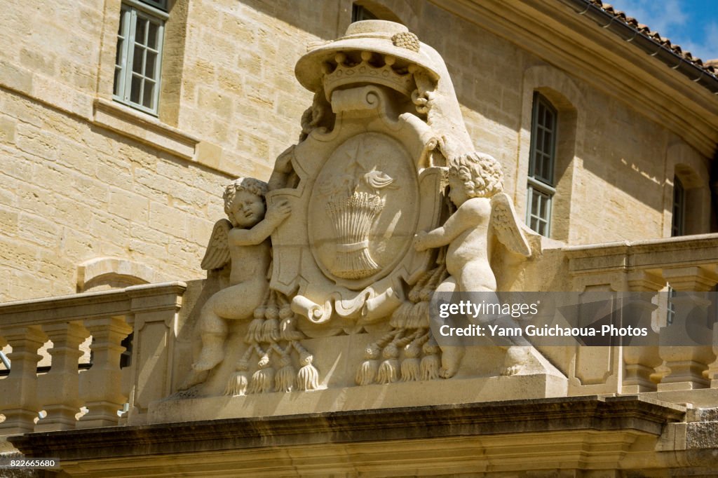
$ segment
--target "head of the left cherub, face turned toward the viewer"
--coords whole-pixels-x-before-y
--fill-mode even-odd
[[[264,219],[266,182],[253,177],[235,179],[225,187],[225,213],[235,228],[252,228]]]

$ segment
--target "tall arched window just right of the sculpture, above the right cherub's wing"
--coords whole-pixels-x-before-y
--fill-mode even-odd
[[[544,96],[534,93],[526,192],[526,224],[546,237],[551,234],[551,201],[556,194],[554,184],[556,119],[556,108]]]

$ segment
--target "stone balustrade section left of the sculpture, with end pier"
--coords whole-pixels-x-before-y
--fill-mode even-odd
[[[158,283],[1,304],[0,344],[12,352],[9,375],[0,380],[0,435],[117,425],[126,403],[128,420],[141,422],[146,403],[169,393],[185,289]],[[121,342],[131,333],[131,362],[121,369]],[[91,366],[78,373],[80,344],[90,335]],[[51,367],[38,373],[47,340]]]

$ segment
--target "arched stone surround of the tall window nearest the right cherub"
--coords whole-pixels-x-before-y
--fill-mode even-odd
[[[584,98],[574,80],[564,72],[549,65],[536,65],[523,73],[521,100],[521,130],[518,138],[518,161],[516,164],[516,192],[514,204],[519,217],[526,217],[528,165],[531,151],[531,123],[533,119],[534,93],[544,96],[558,112],[556,138],[556,164],[554,184],[556,195],[551,209],[551,239],[569,242],[571,222],[571,198],[577,183],[577,164],[580,159],[576,151],[582,144],[585,131]]]

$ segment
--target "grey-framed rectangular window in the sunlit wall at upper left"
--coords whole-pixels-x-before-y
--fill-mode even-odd
[[[113,98],[157,114],[167,1],[126,0],[117,32]]]

